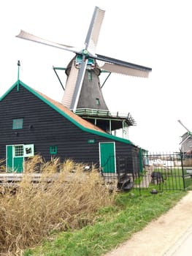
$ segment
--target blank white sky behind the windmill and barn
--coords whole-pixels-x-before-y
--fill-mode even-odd
[[[190,0],[2,0],[0,95],[16,82],[20,60],[20,80],[61,101],[52,67],[66,67],[73,53],[15,35],[23,29],[82,50],[95,6],[106,10],[96,53],[153,69],[147,79],[112,74],[103,89],[108,108],[131,113],[137,127],[129,139],[137,145],[178,151],[186,130],[177,120],[192,130]]]

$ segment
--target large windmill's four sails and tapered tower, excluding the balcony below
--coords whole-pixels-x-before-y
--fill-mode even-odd
[[[107,105],[104,102],[99,81],[101,70],[142,78],[147,78],[149,72],[152,70],[149,67],[143,67],[96,54],[96,45],[99,39],[99,32],[104,19],[104,13],[104,10],[95,7],[88,33],[85,38],[85,48],[80,51],[74,50],[74,47],[69,45],[62,45],[36,37],[23,30],[16,36],[75,53],[75,57],[70,61],[66,69],[68,78],[66,80],[64,97],[62,99],[63,104],[74,112],[77,108],[108,110]],[[96,61],[99,61],[98,63],[101,64],[99,65]]]

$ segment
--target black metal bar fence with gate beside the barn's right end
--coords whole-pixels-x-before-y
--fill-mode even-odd
[[[146,151],[116,159],[115,173],[102,173],[104,181],[121,190],[192,189],[192,155],[183,152],[149,154]],[[109,170],[109,169],[108,169]]]

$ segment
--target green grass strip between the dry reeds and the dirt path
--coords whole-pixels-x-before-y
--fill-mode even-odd
[[[28,249],[24,255],[102,255],[164,214],[184,195],[185,191],[162,192],[157,195],[151,195],[150,190],[142,191],[142,195],[137,190],[120,193],[114,206],[97,211],[97,221],[93,225],[50,236],[41,246]]]

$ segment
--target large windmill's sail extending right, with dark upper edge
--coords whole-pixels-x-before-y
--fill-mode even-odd
[[[92,58],[97,59],[99,61],[104,61],[104,64],[100,65],[99,67],[109,72],[147,78],[149,76],[149,72],[152,71],[150,67],[132,64],[130,62],[121,61],[119,59],[113,59],[99,54],[96,54],[96,57],[93,56]]]

